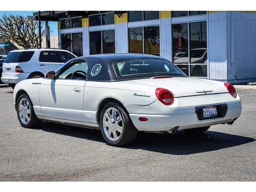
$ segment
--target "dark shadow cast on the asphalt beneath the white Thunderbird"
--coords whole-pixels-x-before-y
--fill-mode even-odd
[[[106,143],[100,130],[66,126],[55,123],[42,123],[42,126],[37,129],[56,134],[68,135],[70,137]],[[190,155],[230,148],[254,141],[254,138],[215,131],[207,131],[197,135],[190,135],[182,130],[177,131],[173,135],[169,133],[159,134],[139,132],[137,139],[132,145],[122,148],[143,149],[172,155]]]

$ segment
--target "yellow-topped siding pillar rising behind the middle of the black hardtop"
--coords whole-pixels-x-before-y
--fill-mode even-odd
[[[121,17],[115,15],[115,52],[128,53],[128,26],[127,26],[127,13]]]

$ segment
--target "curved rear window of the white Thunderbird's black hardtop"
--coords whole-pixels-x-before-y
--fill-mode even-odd
[[[129,59],[113,63],[117,77],[156,74],[186,76],[175,64],[163,59]]]

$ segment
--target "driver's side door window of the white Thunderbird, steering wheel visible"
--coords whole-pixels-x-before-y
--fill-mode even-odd
[[[66,68],[58,77],[58,79],[71,79],[72,74],[75,71],[83,71],[87,74],[87,63],[79,62],[79,63],[70,63],[68,68]],[[84,78],[86,79],[86,75],[84,73],[78,72],[73,75],[73,79],[76,78]]]

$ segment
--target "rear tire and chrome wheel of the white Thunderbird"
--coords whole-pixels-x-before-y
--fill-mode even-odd
[[[100,127],[103,138],[112,146],[129,145],[138,134],[126,109],[115,102],[107,103],[103,108]]]

